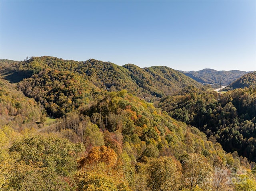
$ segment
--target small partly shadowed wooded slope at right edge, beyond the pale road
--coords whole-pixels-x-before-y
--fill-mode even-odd
[[[225,89],[230,90],[250,86],[256,86],[256,71],[243,75],[242,77],[228,85]]]

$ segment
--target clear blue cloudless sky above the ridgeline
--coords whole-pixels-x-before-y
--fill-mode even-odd
[[[0,0],[0,59],[256,70],[256,0]]]

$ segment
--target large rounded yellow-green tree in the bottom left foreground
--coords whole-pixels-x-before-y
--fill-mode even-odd
[[[14,190],[69,191],[84,147],[61,138],[34,136],[12,144],[9,150],[15,159],[10,175]]]

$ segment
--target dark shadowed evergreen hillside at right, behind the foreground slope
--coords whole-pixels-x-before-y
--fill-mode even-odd
[[[256,87],[235,89],[222,95],[186,87],[160,101],[161,108],[177,120],[196,126],[227,152],[256,161]]]

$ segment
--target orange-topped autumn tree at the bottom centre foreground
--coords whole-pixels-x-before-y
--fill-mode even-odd
[[[127,164],[110,147],[93,147],[78,163],[77,191],[131,191],[125,179]]]

